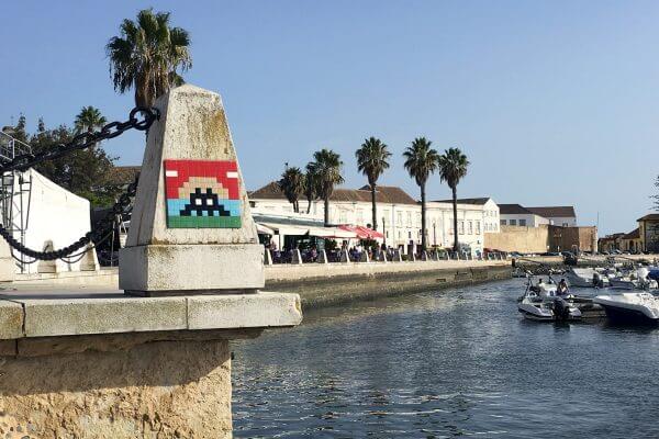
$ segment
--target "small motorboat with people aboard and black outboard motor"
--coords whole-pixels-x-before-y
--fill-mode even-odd
[[[557,294],[555,283],[533,285],[529,278],[524,295],[517,304],[517,311],[525,318],[536,322],[569,322],[581,319],[581,311]]]

